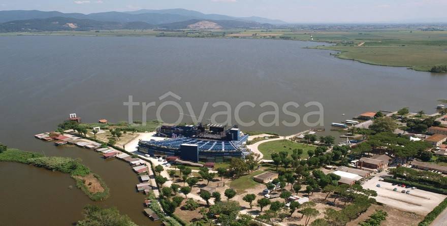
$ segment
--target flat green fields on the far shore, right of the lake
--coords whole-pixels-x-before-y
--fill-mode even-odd
[[[421,31],[417,29],[371,29],[366,31],[244,30],[240,34],[254,35],[244,38],[274,38],[333,43],[336,45],[321,45],[316,48],[340,51],[335,54],[338,58],[357,60],[374,65],[429,71],[433,66],[447,63],[447,31]],[[268,34],[282,35],[266,37]],[[362,45],[359,46],[360,44]]]

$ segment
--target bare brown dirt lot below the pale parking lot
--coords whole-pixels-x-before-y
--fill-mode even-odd
[[[375,212],[375,210],[383,210],[388,213],[387,219],[380,224],[381,226],[416,226],[424,218],[421,215],[397,210],[389,206],[372,205],[357,219],[348,222],[346,226],[359,225],[360,221],[368,219],[369,216]]]

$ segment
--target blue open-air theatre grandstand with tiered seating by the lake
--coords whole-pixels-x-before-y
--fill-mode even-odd
[[[208,134],[208,135],[212,135]],[[209,137],[208,135],[203,137]],[[214,135],[216,135],[214,133]],[[247,154],[244,143],[248,135],[242,134],[239,128],[223,131],[220,140],[196,137],[177,137],[164,141],[140,141],[138,151],[151,156],[179,156],[192,162],[225,162],[232,157],[243,157]]]

